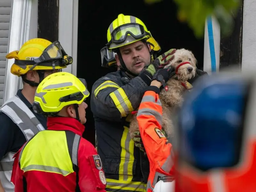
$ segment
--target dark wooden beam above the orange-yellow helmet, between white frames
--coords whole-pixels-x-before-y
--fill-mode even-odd
[[[58,40],[59,0],[38,0],[37,37],[51,42]]]

